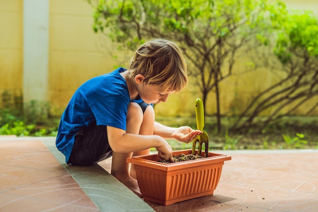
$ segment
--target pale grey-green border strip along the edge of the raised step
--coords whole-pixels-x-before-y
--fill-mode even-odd
[[[56,151],[52,141],[44,142],[60,162],[64,160],[63,157],[60,158],[60,153]],[[72,166],[66,165],[65,162],[61,163],[81,189],[102,211],[154,211],[100,165]]]

